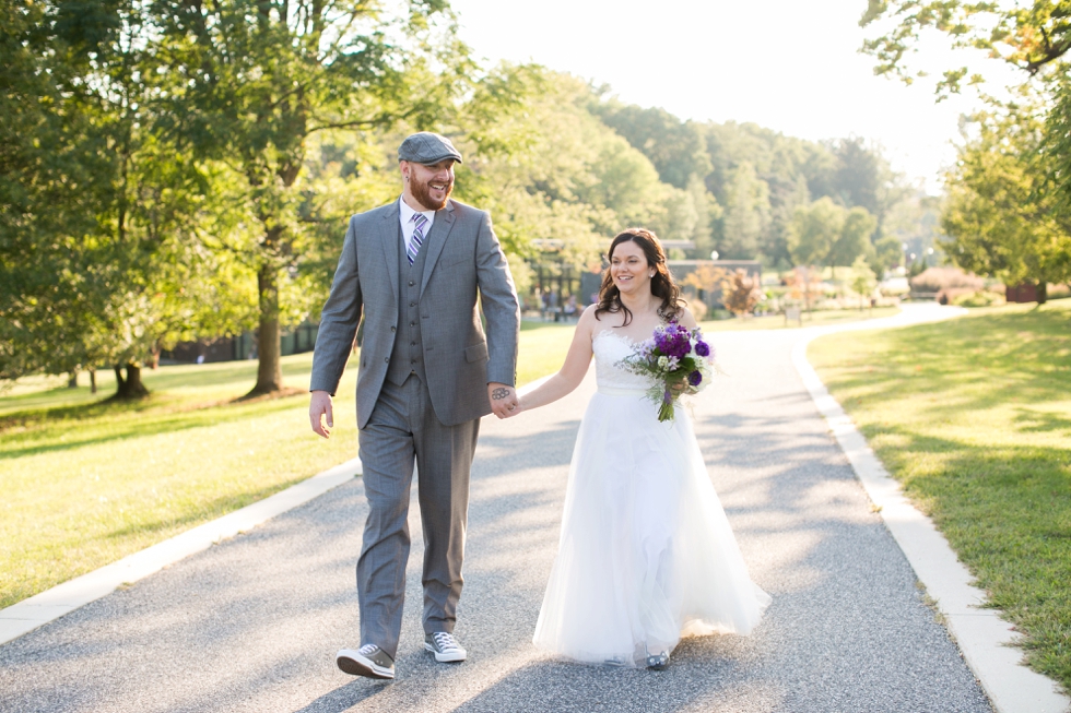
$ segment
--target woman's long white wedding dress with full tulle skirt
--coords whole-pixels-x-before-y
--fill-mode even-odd
[[[659,423],[649,382],[617,367],[633,343],[592,343],[591,397],[565,492],[536,645],[589,664],[645,666],[682,637],[751,633],[752,583],[684,408]]]

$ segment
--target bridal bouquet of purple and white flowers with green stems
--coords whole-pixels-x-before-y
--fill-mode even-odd
[[[698,328],[688,330],[670,322],[657,326],[621,366],[655,382],[647,395],[658,404],[658,420],[673,420],[676,400],[699,393],[709,383],[715,370],[714,350]]]

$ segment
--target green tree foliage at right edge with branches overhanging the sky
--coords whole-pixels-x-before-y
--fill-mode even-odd
[[[890,27],[887,24],[892,22]],[[1069,273],[1071,227],[1071,2],[871,0],[860,24],[883,34],[863,49],[879,74],[910,83],[925,69],[908,67],[926,31],[948,36],[954,48],[974,48],[1022,70],[1009,99],[986,96],[989,109],[973,117],[956,166],[946,175],[941,241],[957,265],[1010,284],[1036,283],[1039,301],[1048,282]],[[966,67],[943,69],[938,100],[961,91]],[[976,73],[969,83],[980,84]]]

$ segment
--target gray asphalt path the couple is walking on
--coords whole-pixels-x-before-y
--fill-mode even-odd
[[[398,679],[336,668],[336,651],[358,644],[355,479],[0,646],[0,711],[990,711],[804,391],[789,357],[800,336],[716,334],[728,377],[694,412],[774,597],[750,638],[685,640],[662,673],[532,647],[592,369],[553,406],[483,421],[457,629],[467,663],[422,650],[414,543]],[[415,503],[410,524],[421,532]]]

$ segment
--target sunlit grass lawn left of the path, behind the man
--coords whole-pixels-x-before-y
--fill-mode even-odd
[[[521,333],[519,382],[557,369],[573,325]],[[255,361],[146,370],[152,395],[102,401],[110,372],[79,389],[20,380],[0,395],[0,607],[260,500],[356,455],[349,369],[330,440],[313,435],[305,395],[233,403]],[[311,355],[283,358],[287,385],[307,388]]]

